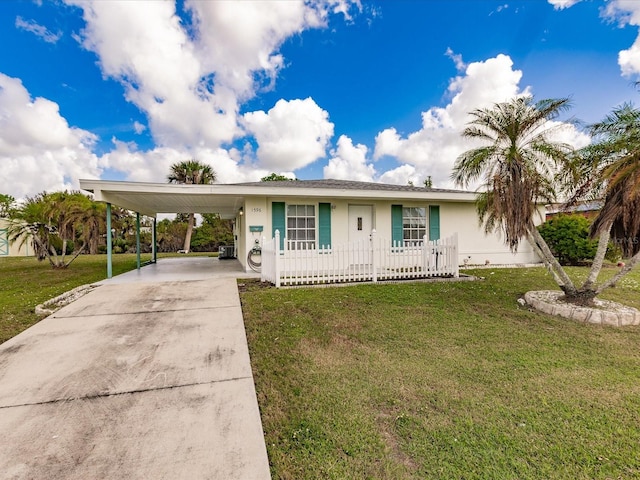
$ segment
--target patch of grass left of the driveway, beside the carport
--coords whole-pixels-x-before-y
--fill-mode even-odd
[[[142,255],[142,261],[150,255]],[[107,277],[106,255],[81,255],[66,269],[54,270],[34,257],[0,258],[0,343],[26,330],[41,317],[36,305],[80,285]],[[113,274],[136,268],[135,254],[113,256]]]

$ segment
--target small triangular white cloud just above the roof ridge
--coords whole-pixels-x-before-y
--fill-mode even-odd
[[[353,141],[341,135],[338,139],[338,148],[331,152],[333,158],[324,167],[324,178],[337,180],[358,180],[371,182],[375,176],[375,168],[367,163],[367,147],[365,145],[353,145]]]

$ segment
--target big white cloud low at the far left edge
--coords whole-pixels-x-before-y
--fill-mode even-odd
[[[78,187],[98,177],[95,136],[70,127],[58,105],[32,99],[19,79],[0,73],[0,189],[16,198]]]

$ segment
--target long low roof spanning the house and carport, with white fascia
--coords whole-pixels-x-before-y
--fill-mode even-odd
[[[331,179],[213,185],[81,179],[80,188],[92,192],[96,201],[112,203],[144,215],[196,212],[218,213],[222,218],[234,218],[245,198],[253,196],[454,202],[471,202],[476,198],[474,192],[461,190]]]

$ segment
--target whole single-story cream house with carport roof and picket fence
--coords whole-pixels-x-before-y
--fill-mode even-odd
[[[485,234],[474,192],[347,180],[80,180],[80,187],[97,201],[154,218],[195,212],[233,219],[235,256],[246,271],[260,265],[263,277],[277,285],[455,276],[459,265],[540,261],[526,242],[514,254],[499,236]],[[273,268],[279,268],[277,278]]]

